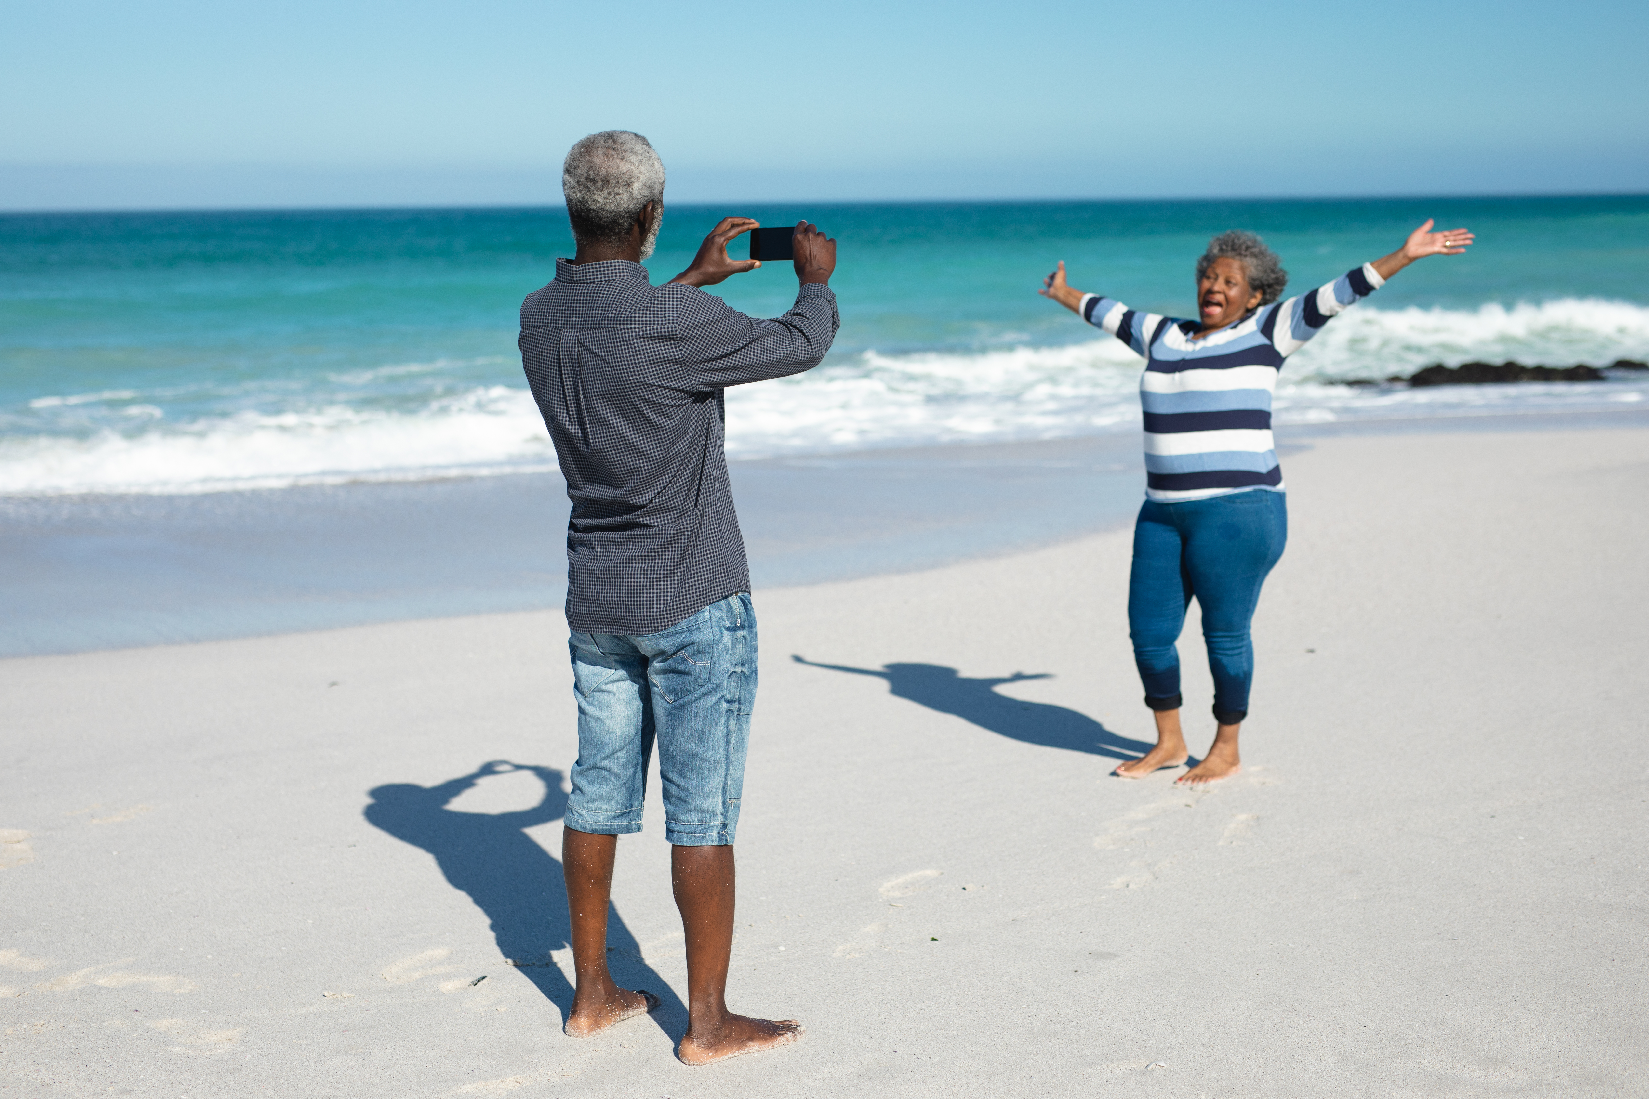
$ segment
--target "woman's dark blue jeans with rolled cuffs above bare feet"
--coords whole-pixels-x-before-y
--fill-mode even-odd
[[[1248,626],[1260,585],[1288,542],[1283,493],[1252,489],[1177,504],[1146,501],[1135,522],[1128,577],[1128,636],[1144,682],[1144,704],[1177,710],[1179,651],[1186,608],[1202,606],[1202,638],[1214,672],[1214,718],[1235,725],[1248,715],[1253,641]]]

